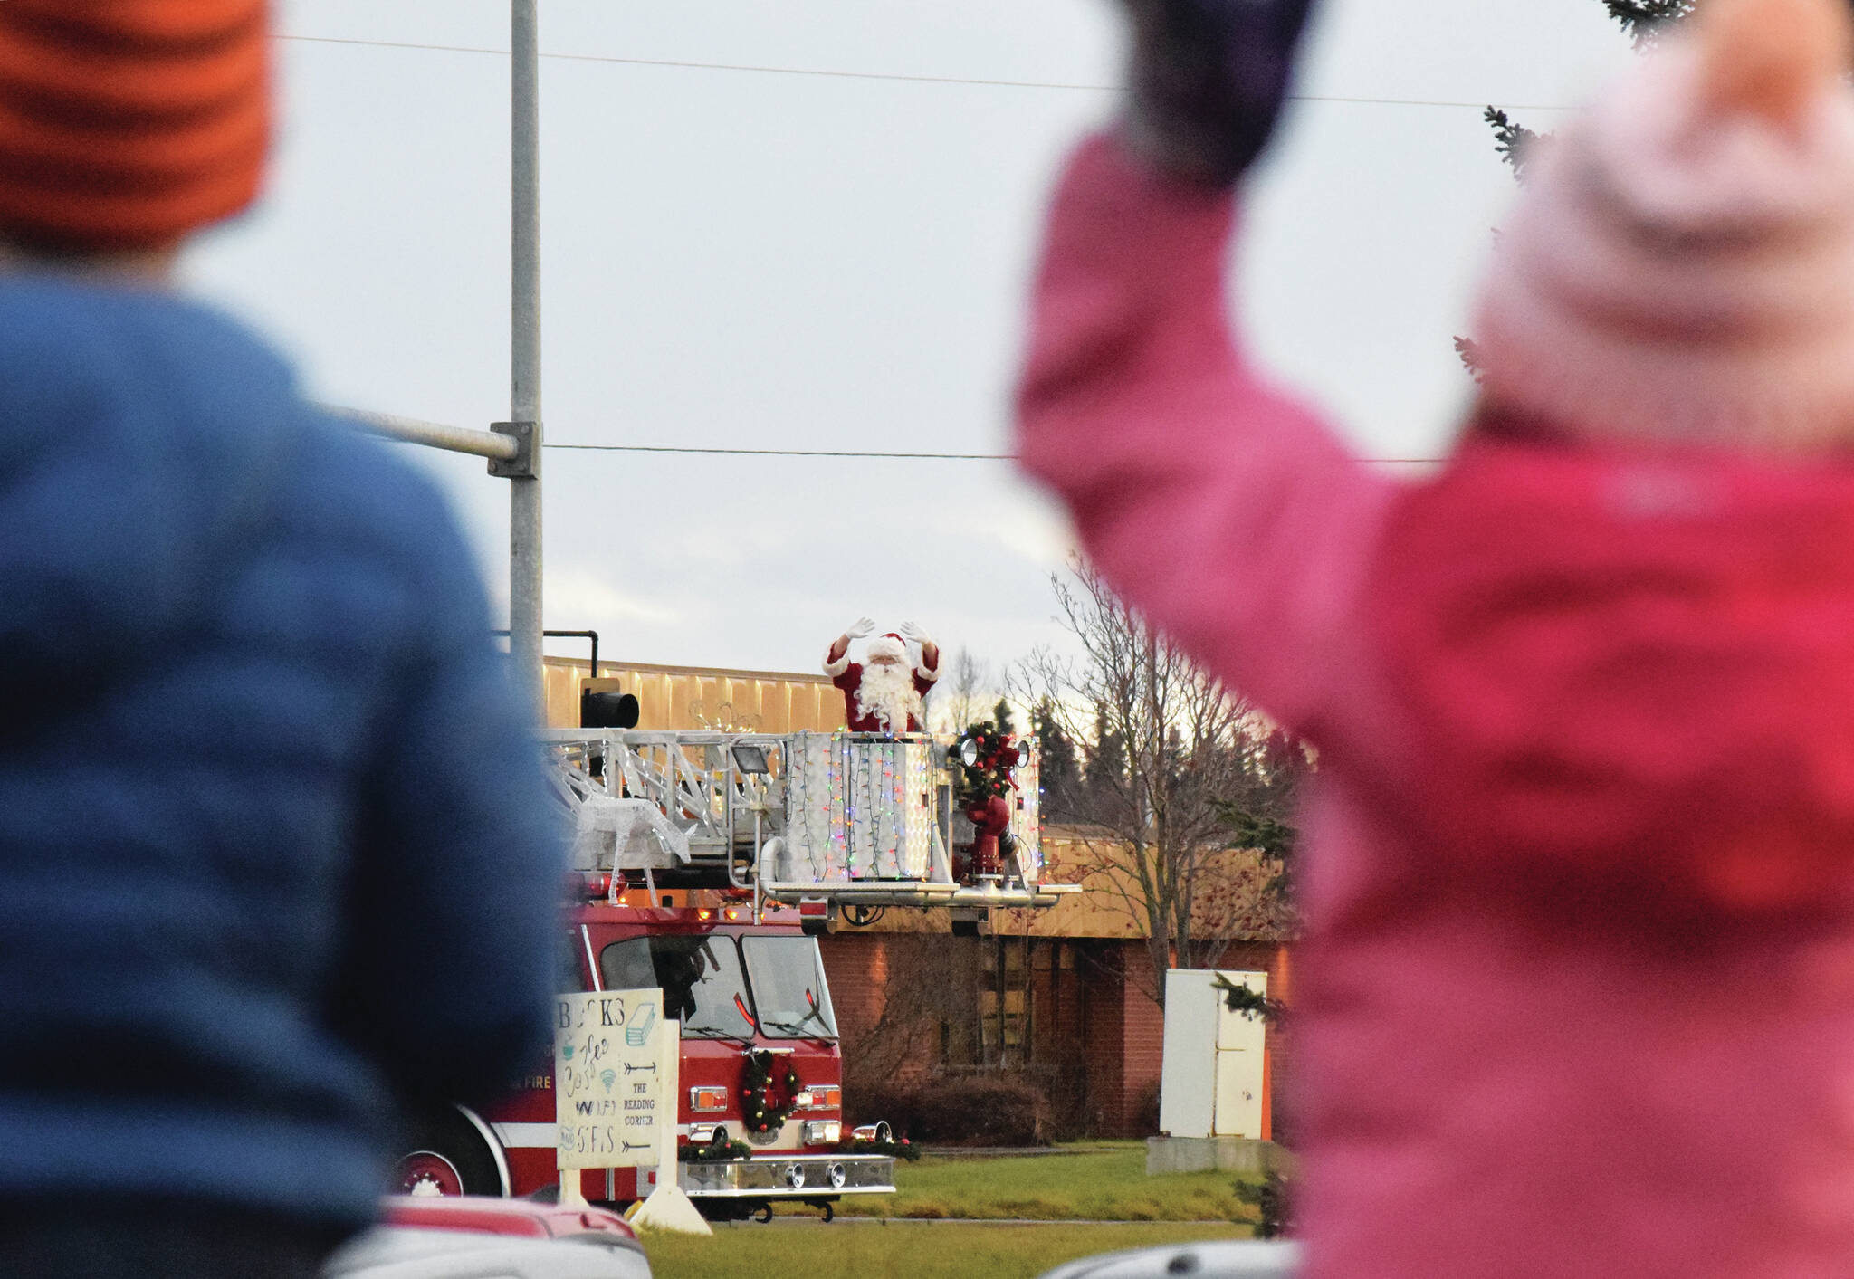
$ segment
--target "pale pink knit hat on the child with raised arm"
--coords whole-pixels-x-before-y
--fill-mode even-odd
[[[1691,30],[1689,30],[1691,28]],[[1474,341],[1583,436],[1854,441],[1845,0],[1709,0],[1528,161]]]

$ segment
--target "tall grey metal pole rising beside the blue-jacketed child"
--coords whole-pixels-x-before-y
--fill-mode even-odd
[[[508,654],[536,714],[541,701],[541,76],[536,0],[510,0],[510,423],[525,454],[508,476]]]

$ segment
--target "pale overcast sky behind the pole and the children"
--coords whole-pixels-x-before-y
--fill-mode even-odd
[[[1116,102],[1105,0],[540,11],[549,443],[1009,449],[1044,195]],[[287,0],[280,30],[269,196],[191,285],[321,399],[508,417],[508,4]],[[1450,339],[1513,191],[1481,104],[1548,128],[1628,56],[1598,0],[1320,11],[1237,306],[1361,452],[1433,456],[1467,395]],[[506,601],[506,482],[406,452]],[[1068,534],[1009,463],[554,449],[545,486],[547,625],[616,658],[814,669],[858,614],[994,662],[1059,636]]]

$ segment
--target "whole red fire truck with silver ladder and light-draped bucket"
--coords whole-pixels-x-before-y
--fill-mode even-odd
[[[634,706],[634,703],[632,703]],[[623,717],[619,717],[623,719]],[[636,723],[634,710],[630,723]],[[999,906],[1049,906],[1035,741],[1009,762],[1001,862],[970,834],[953,769],[970,745],[925,734],[556,728],[558,801],[575,823],[567,988],[664,992],[680,1023],[680,1188],[714,1218],[779,1201],[829,1218],[894,1192],[886,1123],[844,1125],[844,1060],[818,936],[884,908],[944,908],[977,931]],[[970,758],[968,758],[970,764]],[[552,1060],[484,1110],[425,1116],[400,1162],[408,1194],[558,1192]],[[651,1168],[588,1170],[593,1203],[654,1188]]]

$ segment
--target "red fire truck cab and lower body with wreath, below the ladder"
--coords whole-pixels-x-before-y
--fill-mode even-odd
[[[680,1184],[703,1212],[749,1216],[775,1199],[829,1210],[845,1194],[894,1192],[886,1125],[860,1142],[844,1127],[831,988],[799,912],[773,906],[753,923],[751,905],[614,905],[593,888],[599,901],[571,916],[577,988],[662,988],[666,1018],[682,1027]],[[747,1118],[749,1086],[764,1107],[758,1125]],[[400,1164],[406,1194],[558,1194],[551,1062],[480,1114],[419,1127]],[[641,1199],[656,1177],[653,1168],[578,1175],[591,1203]]]

